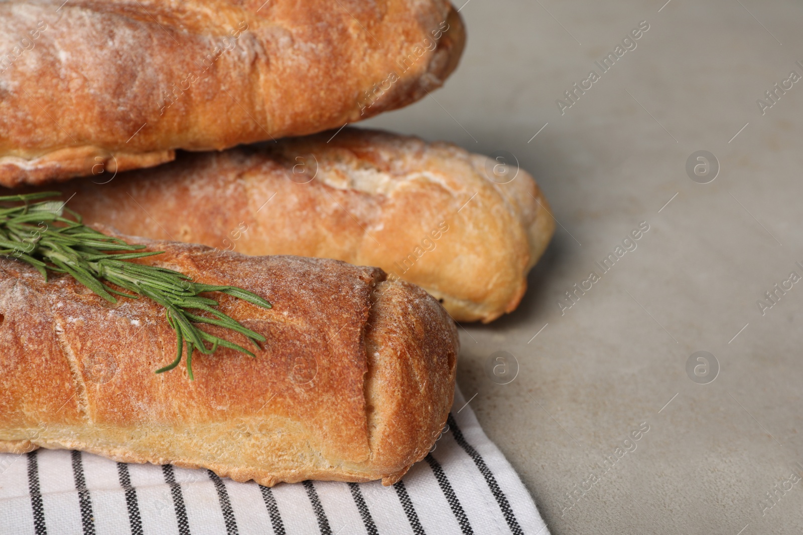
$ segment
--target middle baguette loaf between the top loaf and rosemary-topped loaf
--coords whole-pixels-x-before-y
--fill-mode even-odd
[[[332,133],[60,188],[77,192],[70,205],[89,224],[126,234],[378,265],[458,321],[516,308],[554,229],[527,172],[505,183],[515,170],[495,176],[498,162],[452,144],[356,128],[327,142]]]

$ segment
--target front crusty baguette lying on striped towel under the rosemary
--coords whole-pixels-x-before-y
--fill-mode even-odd
[[[0,260],[0,451],[74,448],[264,485],[391,484],[426,456],[452,403],[459,343],[426,292],[340,261],[150,245],[167,253],[148,263],[269,299],[264,310],[211,294],[267,338],[263,351],[196,353],[194,381],[183,365],[157,375],[176,342],[160,306],[110,305],[68,276],[45,282]]]

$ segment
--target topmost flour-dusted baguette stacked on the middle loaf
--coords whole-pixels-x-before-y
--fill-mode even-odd
[[[447,0],[0,2],[0,184],[340,128],[439,87],[463,43]]]

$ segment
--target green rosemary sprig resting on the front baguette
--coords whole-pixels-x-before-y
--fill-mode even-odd
[[[14,257],[33,265],[45,280],[48,270],[70,274],[108,302],[116,303],[115,295],[134,299],[144,295],[164,306],[167,321],[176,331],[176,359],[156,373],[177,367],[185,347],[190,380],[194,379],[192,359],[196,349],[204,355],[211,355],[218,347],[228,347],[255,356],[234,342],[198,328],[197,323],[207,323],[234,330],[249,338],[258,349],[259,342],[266,340],[262,334],[215,310],[213,307],[218,306],[217,301],[199,294],[222,292],[263,308],[271,308],[271,303],[236,286],[199,284],[177,271],[131,262],[164,251],[136,252],[145,246],[129,245],[83,225],[79,214],[67,209],[66,203],[40,201],[59,195],[58,192],[45,192],[0,197],[0,256]],[[15,205],[6,206],[9,203]],[[72,219],[64,217],[65,213]],[[104,282],[134,295],[116,290]],[[203,311],[214,318],[190,310]]]

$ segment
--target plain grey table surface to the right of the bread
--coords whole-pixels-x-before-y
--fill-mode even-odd
[[[803,4],[664,2],[470,0],[445,87],[363,125],[507,150],[552,203],[528,294],[463,325],[458,373],[552,533],[800,533]],[[690,175],[701,150],[715,160]],[[486,374],[496,351],[511,383]],[[713,359],[687,372],[697,351]]]

